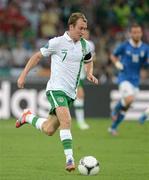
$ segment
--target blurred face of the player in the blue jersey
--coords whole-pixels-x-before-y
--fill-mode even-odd
[[[131,38],[135,41],[138,42],[142,38],[142,29],[141,27],[132,27],[130,31]]]

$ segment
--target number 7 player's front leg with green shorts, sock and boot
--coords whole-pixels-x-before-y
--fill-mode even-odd
[[[75,169],[75,164],[72,150],[71,115],[69,112],[69,105],[73,103],[73,100],[62,91],[50,91],[48,100],[53,103],[52,106],[55,107],[53,110],[60,123],[60,139],[66,157],[66,170],[72,171]]]

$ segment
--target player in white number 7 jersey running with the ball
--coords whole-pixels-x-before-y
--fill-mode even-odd
[[[27,109],[16,121],[16,127],[19,128],[28,123],[49,136],[52,136],[59,128],[67,171],[75,169],[69,106],[76,98],[83,62],[87,79],[98,84],[98,80],[93,75],[92,56],[88,42],[82,38],[86,29],[86,17],[79,12],[71,14],[68,20],[68,31],[63,36],[50,39],[40,51],[36,52],[18,78],[18,87],[23,88],[29,71],[43,56],[51,56],[51,76],[46,87],[49,117],[47,119],[38,117]]]

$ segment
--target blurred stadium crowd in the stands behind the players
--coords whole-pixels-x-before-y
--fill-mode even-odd
[[[126,38],[130,22],[142,25],[143,40],[149,43],[149,3],[145,0],[1,0],[0,77],[18,76],[29,56],[47,38],[64,33],[74,11],[85,13],[89,20],[90,38],[96,46],[94,74],[101,83],[115,82],[117,71],[109,54]],[[49,74],[47,62],[38,67],[39,76]],[[141,77],[147,82],[149,73],[143,69]]]

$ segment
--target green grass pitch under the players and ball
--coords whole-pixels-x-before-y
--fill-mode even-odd
[[[73,120],[76,164],[86,155],[101,165],[96,176],[64,170],[65,158],[57,132],[48,137],[29,125],[15,128],[13,119],[0,121],[0,180],[149,180],[149,122],[125,121],[119,136],[107,133],[108,119],[87,119],[81,131]]]

